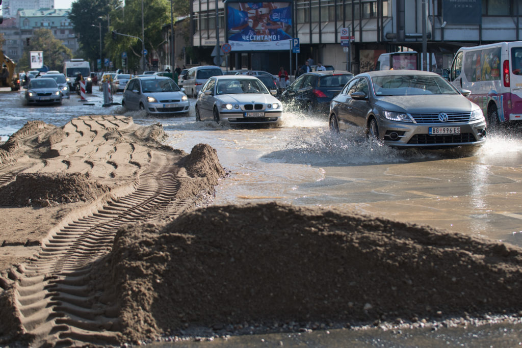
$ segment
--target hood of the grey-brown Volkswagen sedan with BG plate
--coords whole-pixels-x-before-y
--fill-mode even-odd
[[[470,112],[478,105],[460,94],[393,95],[377,97],[376,105],[384,110],[417,113]]]

